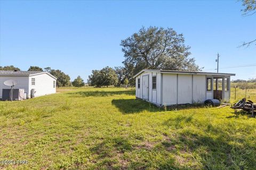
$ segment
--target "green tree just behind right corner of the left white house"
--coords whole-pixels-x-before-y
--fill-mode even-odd
[[[61,70],[51,70],[50,73],[57,78],[56,84],[58,87],[70,86],[70,77],[68,74],[63,73]]]

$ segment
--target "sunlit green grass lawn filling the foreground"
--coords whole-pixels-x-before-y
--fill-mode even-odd
[[[134,89],[60,91],[0,102],[0,160],[29,161],[0,169],[256,167],[256,119],[229,107],[164,111]],[[256,102],[255,89],[247,94]]]

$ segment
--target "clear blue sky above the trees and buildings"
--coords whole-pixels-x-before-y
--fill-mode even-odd
[[[27,70],[50,66],[87,80],[92,70],[121,66],[119,45],[145,27],[183,33],[191,57],[215,72],[256,64],[256,47],[238,48],[256,38],[256,14],[242,16],[237,1],[1,1],[0,65]],[[256,78],[256,66],[220,69],[233,79]]]

